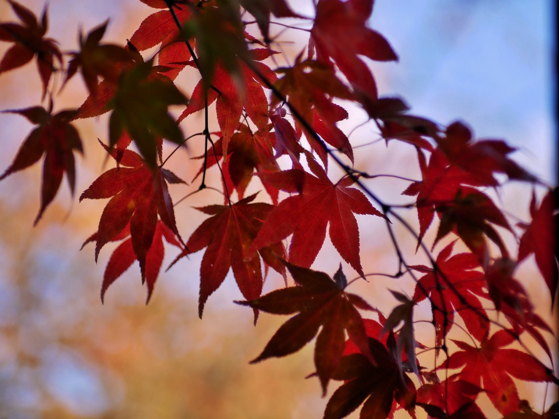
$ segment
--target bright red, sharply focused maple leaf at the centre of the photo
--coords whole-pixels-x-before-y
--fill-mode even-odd
[[[276,206],[264,222],[251,249],[259,249],[293,234],[289,261],[310,267],[326,238],[330,224],[330,239],[344,261],[361,276],[359,230],[355,214],[383,216],[373,208],[363,192],[349,187],[354,183],[343,177],[333,184],[318,163],[307,158],[315,176],[300,169],[291,169],[259,176],[278,189],[296,192],[293,179],[302,180],[302,192],[290,196]]]

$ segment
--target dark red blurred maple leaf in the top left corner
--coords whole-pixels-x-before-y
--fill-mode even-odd
[[[60,67],[63,66],[62,54],[56,46],[58,42],[45,38],[49,27],[46,7],[39,22],[35,14],[20,3],[13,0],[8,0],[8,3],[21,23],[0,23],[0,41],[14,43],[0,61],[0,73],[21,67],[35,56],[42,81],[42,96],[45,97],[50,76],[55,70],[54,60],[58,60]]]

